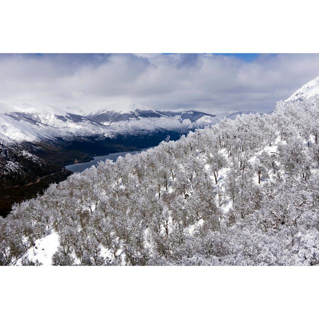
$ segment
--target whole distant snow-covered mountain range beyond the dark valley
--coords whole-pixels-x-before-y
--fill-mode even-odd
[[[156,111],[129,101],[117,103],[87,116],[78,110],[51,105],[0,104],[0,142],[39,142],[54,139],[120,135],[187,133],[217,122],[214,115],[198,111]]]

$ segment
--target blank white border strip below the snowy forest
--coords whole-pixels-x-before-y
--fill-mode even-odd
[[[318,267],[2,267],[0,274],[2,318],[311,318],[318,304]]]

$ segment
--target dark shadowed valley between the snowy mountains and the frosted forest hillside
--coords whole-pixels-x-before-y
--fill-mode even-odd
[[[123,136],[119,139],[100,139],[87,137],[73,141],[60,140],[55,145],[51,143],[25,142],[14,146],[12,154],[27,152],[29,159],[19,155],[4,158],[2,152],[2,167],[8,167],[8,173],[0,173],[0,216],[5,217],[14,203],[35,197],[41,194],[51,183],[65,180],[71,173],[69,165],[80,165],[83,169],[95,157],[109,157],[116,159],[113,154],[135,153],[143,149],[157,146],[171,133],[172,140],[180,137],[174,132],[151,134],[149,136]],[[2,146],[2,148],[4,148]],[[23,151],[20,151],[20,150]],[[32,155],[33,158],[30,158]],[[14,162],[14,166],[10,164]],[[78,171],[78,170],[76,170]]]

